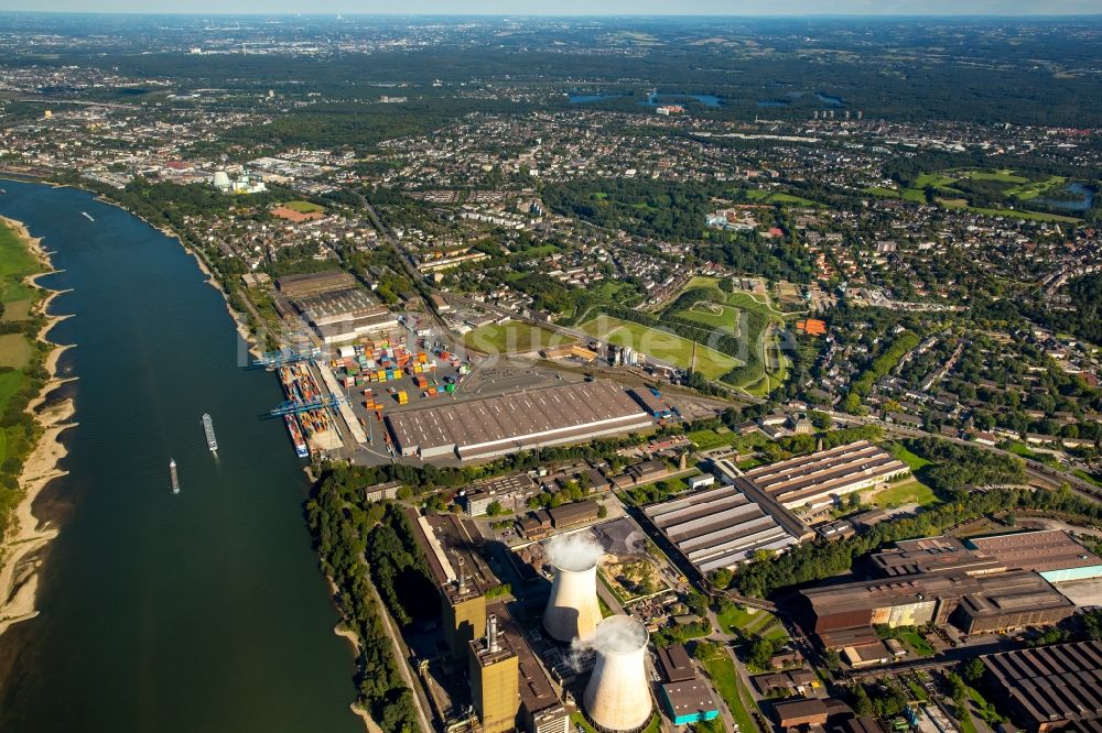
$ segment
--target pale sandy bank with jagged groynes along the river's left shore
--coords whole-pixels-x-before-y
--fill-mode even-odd
[[[0,217],[0,219],[19,234],[28,249],[42,264],[44,272],[26,278],[29,283],[41,288],[36,280],[55,272],[50,262],[50,256],[42,248],[41,240],[31,237],[26,227],[21,222],[3,217]],[[60,294],[61,292],[51,291],[46,297],[42,298],[35,305],[35,311],[41,315],[47,315],[51,302]],[[46,325],[37,333],[39,340],[50,343],[46,340],[46,333],[57,322],[67,317],[47,315]],[[53,346],[44,364],[50,378],[42,386],[39,395],[26,407],[26,411],[42,426],[43,433],[28,457],[26,462],[23,464],[23,471],[19,477],[19,485],[23,490],[23,497],[15,507],[8,536],[4,538],[3,544],[0,545],[0,634],[14,623],[33,619],[37,615],[39,612],[34,606],[34,601],[39,583],[39,553],[51,539],[57,536],[55,528],[48,525],[40,526],[40,522],[34,516],[32,507],[34,500],[42,493],[46,484],[66,473],[57,468],[57,463],[66,455],[65,446],[62,445],[60,438],[63,431],[75,425],[75,423],[71,422],[75,409],[73,401],[64,400],[41,409],[41,412],[39,409],[52,390],[68,381],[56,378],[57,360],[68,348],[72,348],[72,346]]]

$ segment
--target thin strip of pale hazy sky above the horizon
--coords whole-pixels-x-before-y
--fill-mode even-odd
[[[186,13],[1049,15],[1099,14],[1102,0],[0,0],[0,10]]]

